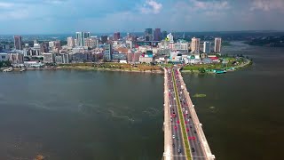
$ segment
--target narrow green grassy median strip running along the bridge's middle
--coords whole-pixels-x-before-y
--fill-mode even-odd
[[[189,148],[189,142],[188,142],[188,138],[187,138],[187,134],[186,134],[186,130],[185,130],[185,120],[184,120],[184,116],[183,116],[183,112],[181,111],[181,107],[180,107],[180,103],[179,103],[179,97],[177,94],[177,84],[175,81],[175,72],[172,69],[172,81],[174,82],[174,89],[175,89],[175,93],[176,93],[176,101],[177,101],[177,108],[178,108],[178,115],[180,117],[180,124],[181,124],[181,128],[182,128],[182,134],[183,134],[183,140],[185,143],[185,154],[186,154],[186,159],[187,160],[192,160],[191,154],[190,154],[190,148]]]

